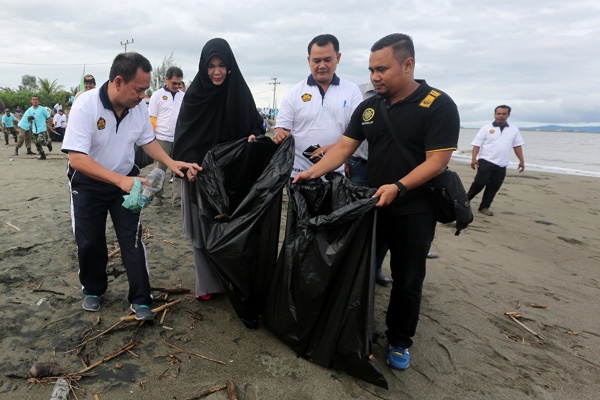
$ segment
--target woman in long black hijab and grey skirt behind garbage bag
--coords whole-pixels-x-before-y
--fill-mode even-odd
[[[202,49],[198,73],[181,104],[174,159],[201,164],[215,145],[261,134],[262,117],[229,43],[220,38],[209,40]],[[196,298],[209,300],[212,293],[223,292],[223,287],[204,255],[195,190],[191,190],[187,180],[182,182],[183,231],[192,239],[194,249]]]

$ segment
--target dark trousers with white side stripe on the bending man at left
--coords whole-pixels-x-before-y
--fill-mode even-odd
[[[129,175],[137,175],[134,167]],[[106,266],[106,218],[112,219],[121,247],[121,258],[129,281],[130,303],[152,303],[146,248],[141,241],[140,214],[123,207],[123,192],[117,186],[92,179],[69,166],[71,218],[77,242],[79,281],[86,295],[103,295],[108,287]]]

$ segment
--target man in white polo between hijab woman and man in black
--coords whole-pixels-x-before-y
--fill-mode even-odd
[[[342,57],[337,38],[316,36],[308,44],[311,74],[281,101],[273,141],[293,135],[296,156],[292,177],[310,168],[342,137],[354,109],[363,100],[358,86],[335,74]],[[311,147],[313,145],[318,145]],[[344,173],[344,167],[336,169]]]

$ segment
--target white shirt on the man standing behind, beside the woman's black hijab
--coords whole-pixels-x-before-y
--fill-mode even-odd
[[[148,113],[156,117],[156,138],[167,142],[175,139],[175,125],[179,116],[179,109],[183,101],[183,93],[177,90],[175,94],[162,87],[152,94]]]

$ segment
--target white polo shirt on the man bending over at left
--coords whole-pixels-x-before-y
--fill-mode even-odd
[[[107,88],[108,82],[73,103],[61,150],[87,154],[104,168],[127,175],[134,165],[133,145],[146,145],[156,137],[146,103],[126,109],[117,120]]]

